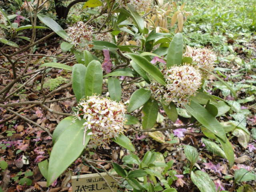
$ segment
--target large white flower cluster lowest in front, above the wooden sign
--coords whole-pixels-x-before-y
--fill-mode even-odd
[[[117,137],[124,132],[126,122],[124,104],[117,103],[100,96],[90,96],[81,100],[76,107],[75,118],[86,120],[84,123],[84,136],[91,129],[89,148],[110,143],[110,138]]]

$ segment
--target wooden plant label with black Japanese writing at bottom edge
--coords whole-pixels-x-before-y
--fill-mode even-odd
[[[118,183],[106,173],[100,173],[108,181],[108,184],[114,192],[117,192]],[[116,172],[110,173],[118,176]],[[72,192],[111,192],[104,179],[98,174],[86,174],[80,176],[72,176]]]

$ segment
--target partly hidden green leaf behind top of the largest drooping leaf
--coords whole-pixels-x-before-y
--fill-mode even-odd
[[[69,126],[72,126],[72,121],[73,121],[73,116],[69,116],[69,117],[66,117],[64,119],[62,119],[59,124],[56,126],[56,128],[54,129],[54,132],[52,134],[52,143],[54,144],[59,136],[62,134],[62,132],[64,132],[64,130],[66,128],[68,128]]]

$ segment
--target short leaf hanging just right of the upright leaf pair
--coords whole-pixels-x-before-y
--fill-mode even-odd
[[[108,78],[108,92],[112,100],[120,102],[122,96],[122,87],[120,81],[117,78]]]

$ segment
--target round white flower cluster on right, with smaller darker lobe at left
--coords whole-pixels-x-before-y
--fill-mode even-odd
[[[164,78],[166,87],[154,81],[149,85],[150,91],[156,100],[165,100],[166,104],[174,102],[177,107],[188,104],[202,80],[200,71],[189,64],[164,70]]]

